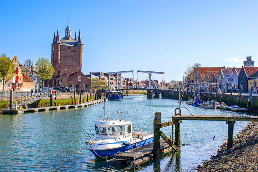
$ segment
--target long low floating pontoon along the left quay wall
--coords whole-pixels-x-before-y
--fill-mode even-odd
[[[28,108],[28,109],[3,109],[3,114],[20,114],[27,112],[38,112],[38,111],[49,111],[49,110],[60,110],[60,109],[70,109],[70,108],[78,108],[78,107],[87,107],[93,104],[104,102],[104,99],[93,100],[91,102],[85,102],[81,104],[73,104],[73,105],[62,105],[62,106],[50,106],[50,107],[42,107],[42,108]]]

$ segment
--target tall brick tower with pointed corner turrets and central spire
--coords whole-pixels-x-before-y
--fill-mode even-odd
[[[54,32],[53,43],[51,44],[51,63],[55,69],[55,74],[51,80],[53,87],[60,86],[61,76],[68,76],[73,72],[82,70],[83,43],[79,31],[78,41],[71,37],[69,20],[65,28],[65,37],[59,40],[59,32]],[[61,74],[61,75],[60,75]],[[63,78],[64,79],[64,78]]]

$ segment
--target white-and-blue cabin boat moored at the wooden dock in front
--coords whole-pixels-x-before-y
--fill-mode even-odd
[[[104,99],[105,108],[105,99]],[[88,129],[84,132],[88,141],[86,149],[91,151],[97,158],[106,158],[134,149],[153,142],[153,133],[144,132],[143,129],[134,129],[133,122],[122,119],[111,120],[111,117],[104,114],[104,119],[97,119],[94,122],[95,129]]]

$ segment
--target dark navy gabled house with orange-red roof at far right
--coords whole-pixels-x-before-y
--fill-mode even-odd
[[[238,89],[243,85],[243,92],[247,93],[250,88],[248,88],[248,80],[252,74],[258,71],[258,67],[253,66],[242,66],[241,71],[238,76]]]

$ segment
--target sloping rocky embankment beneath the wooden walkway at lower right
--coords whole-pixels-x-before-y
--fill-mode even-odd
[[[233,140],[233,148],[227,143],[220,146],[216,156],[198,165],[199,172],[258,172],[258,122],[249,123]]]

